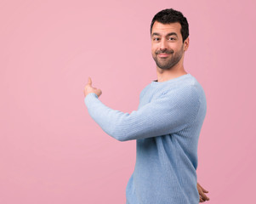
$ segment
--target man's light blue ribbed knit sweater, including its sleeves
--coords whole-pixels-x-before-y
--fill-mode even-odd
[[[127,204],[196,204],[197,144],[207,103],[191,74],[152,81],[130,114],[104,105],[97,94],[84,99],[89,115],[111,137],[137,139],[136,164]]]

